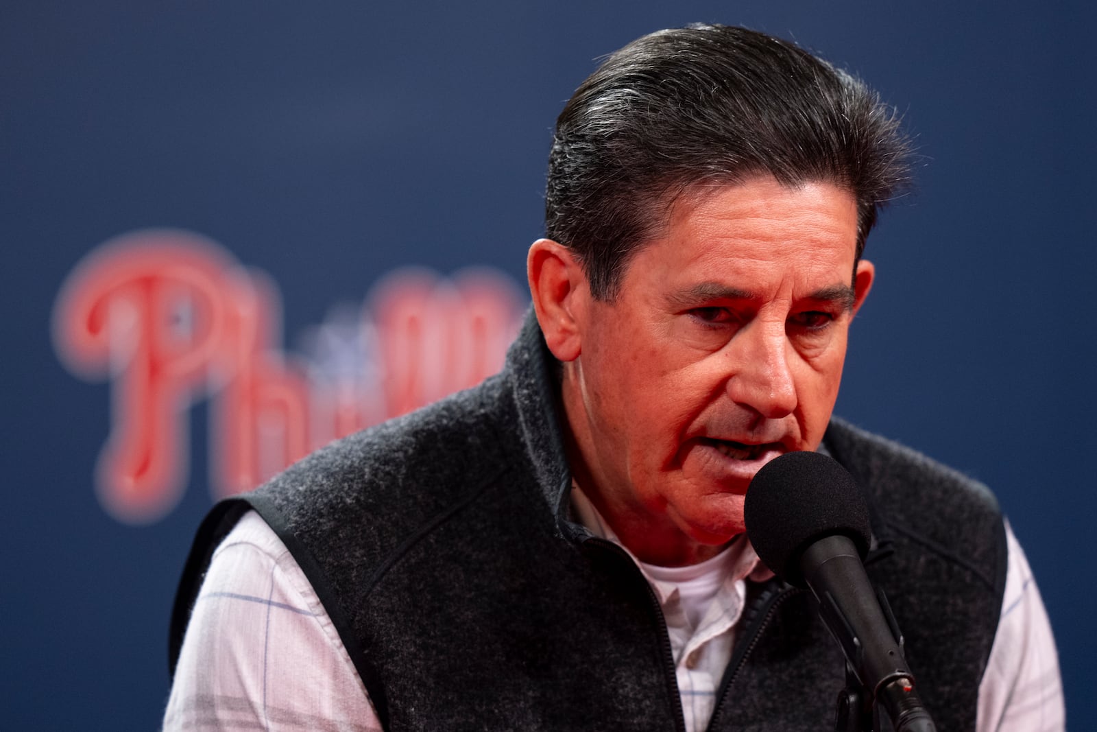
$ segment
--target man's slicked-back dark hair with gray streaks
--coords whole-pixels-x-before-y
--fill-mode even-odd
[[[545,235],[611,301],[682,193],[769,173],[850,191],[860,259],[909,158],[895,111],[799,46],[725,25],[658,31],[610,55],[557,119]]]

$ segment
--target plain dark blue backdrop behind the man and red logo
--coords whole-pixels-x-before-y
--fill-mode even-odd
[[[1068,718],[1087,727],[1092,4],[593,4],[5,3],[5,728],[159,724],[174,584],[216,489],[211,382],[184,409],[178,503],[134,523],[100,500],[120,367],[81,376],[50,325],[78,262],[148,227],[207,237],[281,292],[291,357],[315,356],[314,326],[395,268],[486,264],[521,283],[564,101],[600,55],[695,20],[793,38],[904,114],[918,190],[869,240],[878,280],[838,413],[995,489],[1058,635]]]

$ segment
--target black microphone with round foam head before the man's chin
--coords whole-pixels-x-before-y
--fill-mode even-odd
[[[819,616],[869,701],[886,709],[896,732],[936,732],[887,600],[864,574],[869,510],[853,476],[826,455],[790,452],[758,471],[744,510],[766,566],[818,598]]]

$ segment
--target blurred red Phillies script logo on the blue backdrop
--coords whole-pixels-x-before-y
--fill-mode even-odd
[[[337,437],[498,371],[524,307],[496,270],[395,270],[289,353],[269,275],[197,234],[149,229],[77,264],[53,327],[70,371],[111,383],[100,503],[120,521],[147,523],[185,489],[196,402],[210,399],[214,497],[233,495]]]

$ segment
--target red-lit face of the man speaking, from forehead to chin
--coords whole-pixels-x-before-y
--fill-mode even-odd
[[[860,262],[850,286],[856,240],[855,200],[828,183],[700,189],[612,303],[581,299],[564,376],[573,463],[641,559],[713,553],[744,531],[755,473],[818,447],[872,280]]]

